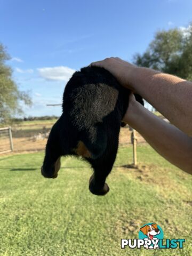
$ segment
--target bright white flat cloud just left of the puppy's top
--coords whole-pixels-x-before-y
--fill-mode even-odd
[[[68,67],[60,66],[53,68],[38,68],[39,75],[46,80],[52,81],[65,81],[67,82],[69,78],[76,71]]]

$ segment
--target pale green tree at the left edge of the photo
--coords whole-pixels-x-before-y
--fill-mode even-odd
[[[29,94],[19,91],[13,81],[12,69],[5,63],[9,59],[5,47],[0,44],[0,123],[10,122],[15,115],[22,114],[21,102],[31,104]]]

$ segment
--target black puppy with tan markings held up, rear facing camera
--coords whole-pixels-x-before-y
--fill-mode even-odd
[[[86,67],[69,80],[63,94],[63,113],[53,125],[46,145],[42,174],[56,178],[60,156],[81,156],[93,167],[89,189],[95,195],[109,191],[105,183],[118,149],[122,118],[130,90],[106,69]],[[143,104],[142,98],[135,95]]]

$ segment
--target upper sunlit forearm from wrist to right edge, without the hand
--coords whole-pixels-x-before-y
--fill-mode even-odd
[[[148,68],[137,68],[130,83],[172,124],[192,136],[192,83]]]

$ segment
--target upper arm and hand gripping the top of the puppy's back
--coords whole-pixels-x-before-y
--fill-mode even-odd
[[[140,94],[172,124],[192,136],[191,82],[119,58],[107,58],[91,65],[109,70],[124,87]]]

